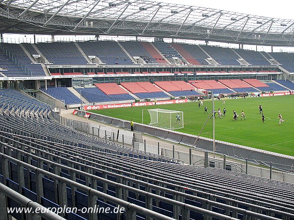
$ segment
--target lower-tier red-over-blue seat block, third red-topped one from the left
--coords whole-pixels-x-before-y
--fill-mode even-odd
[[[193,86],[184,81],[157,81],[154,83],[173,96],[200,95]]]

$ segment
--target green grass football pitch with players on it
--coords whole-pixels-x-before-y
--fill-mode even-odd
[[[142,109],[167,109],[184,112],[184,128],[178,132],[198,135],[202,129],[208,114],[204,114],[205,105],[208,112],[212,110],[212,101],[205,100],[203,106],[198,108],[197,102],[185,104],[156,105],[147,107],[133,107],[107,110],[92,110],[103,115],[133,119],[134,122],[142,123]],[[262,123],[258,106],[262,105],[265,122]],[[223,119],[215,120],[215,138],[217,140],[240,144],[252,148],[276,152],[294,156],[294,95],[254,97],[226,99],[222,105],[221,100],[215,100],[215,109],[226,108],[227,112]],[[233,120],[233,110],[239,114],[239,120]],[[244,110],[246,120],[241,120],[241,111]],[[281,113],[285,122],[279,126],[278,114]],[[216,114],[217,116],[217,114]],[[174,120],[176,120],[174,118]],[[209,118],[200,136],[213,138],[213,119]],[[144,124],[150,122],[148,113],[144,111]]]

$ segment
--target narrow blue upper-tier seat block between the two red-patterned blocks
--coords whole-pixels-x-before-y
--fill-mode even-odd
[[[172,57],[177,57],[181,60],[182,63],[186,64],[187,62],[183,57],[176,51],[171,44],[163,42],[163,41],[155,41],[153,44],[157,47],[157,49],[172,63],[175,64],[174,59]]]

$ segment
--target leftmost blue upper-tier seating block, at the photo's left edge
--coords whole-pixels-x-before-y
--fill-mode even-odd
[[[0,68],[7,69],[1,71],[6,76],[46,76],[41,64],[32,64],[31,59],[26,55],[20,44],[1,43]],[[2,51],[9,52],[9,55]],[[13,57],[13,58],[12,58]]]

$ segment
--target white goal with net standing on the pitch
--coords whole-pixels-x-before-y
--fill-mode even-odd
[[[148,112],[150,115],[149,125],[171,130],[184,128],[183,111],[149,109]]]

